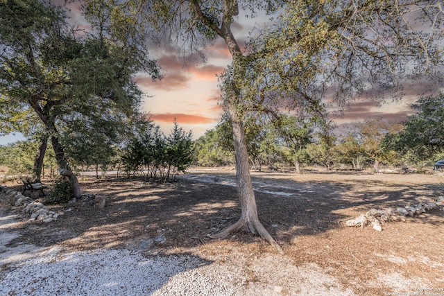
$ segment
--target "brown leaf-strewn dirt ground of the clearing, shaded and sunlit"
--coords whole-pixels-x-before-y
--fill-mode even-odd
[[[239,218],[234,174],[232,168],[192,168],[167,184],[137,178],[80,180],[89,197],[53,206],[63,215],[51,223],[22,220],[14,230],[24,235],[11,244],[59,245],[64,252],[127,248],[143,249],[146,256],[194,254],[239,268],[249,275],[250,285],[284,283],[276,295],[298,295],[288,287],[297,286],[289,282],[301,266],[355,295],[444,295],[442,208],[386,223],[382,232],[345,226],[372,208],[436,200],[444,195],[441,173],[253,172],[259,218],[283,255],[248,232],[221,241],[208,237]],[[106,196],[103,210],[94,208],[96,194]],[[268,271],[261,271],[261,262]]]

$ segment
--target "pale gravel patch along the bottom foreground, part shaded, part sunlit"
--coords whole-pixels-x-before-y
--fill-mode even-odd
[[[130,250],[47,254],[16,262],[0,295],[354,295],[314,263],[297,267],[279,256],[236,252],[217,261]]]

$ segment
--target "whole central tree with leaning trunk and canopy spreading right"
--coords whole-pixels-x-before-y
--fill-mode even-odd
[[[223,238],[248,229],[282,250],[257,216],[250,180],[244,116],[247,112],[293,109],[323,117],[324,98],[343,103],[358,94],[402,96],[402,82],[439,77],[442,64],[441,0],[85,0],[85,8],[107,3],[136,13],[147,28],[167,33],[182,50],[201,50],[221,37],[232,65],[221,78],[223,107],[230,114],[241,218],[224,229]],[[270,28],[242,51],[234,20],[242,11],[272,12]],[[246,12],[248,13],[248,12]]]

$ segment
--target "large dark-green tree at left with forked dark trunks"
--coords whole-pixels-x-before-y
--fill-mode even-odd
[[[66,19],[65,10],[49,1],[0,2],[1,132],[40,134],[39,177],[51,139],[59,172],[69,177],[78,198],[80,186],[67,151],[79,138],[115,137],[138,112],[142,93],[132,74],[141,69],[153,77],[159,73],[128,19],[117,33],[104,28],[103,15],[89,19],[89,33],[76,31]],[[88,153],[95,153],[94,146]]]

